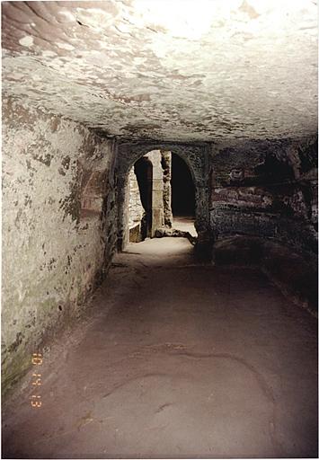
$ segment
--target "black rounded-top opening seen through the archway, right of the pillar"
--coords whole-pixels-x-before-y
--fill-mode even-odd
[[[172,154],[173,216],[195,217],[195,186],[188,165],[179,155]]]

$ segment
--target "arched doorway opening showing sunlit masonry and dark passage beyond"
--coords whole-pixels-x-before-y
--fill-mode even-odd
[[[196,238],[195,186],[179,155],[152,150],[128,174],[129,242],[156,235]]]

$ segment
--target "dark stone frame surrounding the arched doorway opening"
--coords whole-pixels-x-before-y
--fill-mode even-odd
[[[197,249],[210,252],[209,231],[209,146],[184,145],[169,142],[130,142],[119,145],[116,163],[118,201],[118,250],[123,251],[128,241],[128,223],[125,216],[128,194],[128,173],[133,164],[152,150],[171,151],[182,157],[188,165],[195,187],[195,227],[198,233]]]

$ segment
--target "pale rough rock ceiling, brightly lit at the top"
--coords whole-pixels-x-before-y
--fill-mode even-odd
[[[106,136],[317,130],[313,0],[4,2],[3,91]]]

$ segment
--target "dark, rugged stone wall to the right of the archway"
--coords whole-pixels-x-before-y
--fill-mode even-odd
[[[266,236],[316,252],[316,138],[224,148],[212,158],[210,180],[215,237]]]

